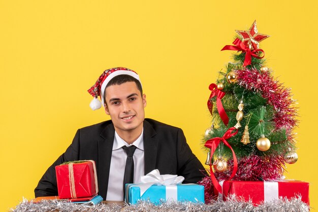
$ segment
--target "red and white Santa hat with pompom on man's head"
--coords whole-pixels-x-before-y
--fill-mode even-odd
[[[94,97],[89,104],[89,107],[93,111],[100,109],[102,107],[102,104],[104,105],[105,88],[107,84],[109,83],[109,81],[118,75],[129,75],[140,82],[138,74],[129,68],[115,67],[115,68],[104,70],[103,74],[98,78],[96,83],[87,90],[88,93]],[[98,100],[98,96],[100,96],[102,102]]]

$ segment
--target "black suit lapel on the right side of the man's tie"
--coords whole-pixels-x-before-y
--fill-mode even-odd
[[[156,168],[158,139],[156,131],[144,121],[144,151],[145,151],[145,173],[147,174]]]

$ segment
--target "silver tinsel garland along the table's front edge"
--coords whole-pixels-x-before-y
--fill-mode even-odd
[[[32,202],[23,200],[16,208],[11,211],[32,211],[32,212],[44,212],[44,211],[166,211],[166,212],[177,212],[177,211],[309,211],[309,206],[301,201],[301,198],[273,200],[265,202],[258,206],[253,206],[251,201],[245,202],[236,196],[231,196],[228,201],[219,202],[213,201],[211,204],[200,204],[193,202],[163,202],[162,204],[154,205],[149,201],[140,201],[135,205],[126,204],[103,204],[93,206],[83,206],[74,204],[72,202],[64,200],[42,200],[40,202]]]

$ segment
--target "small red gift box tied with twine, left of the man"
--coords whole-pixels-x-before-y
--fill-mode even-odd
[[[55,166],[60,199],[91,197],[98,193],[95,162],[74,161]]]

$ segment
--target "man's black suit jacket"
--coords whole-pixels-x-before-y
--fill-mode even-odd
[[[58,195],[55,166],[66,161],[94,160],[98,174],[99,195],[105,200],[114,133],[111,120],[77,130],[70,147],[42,176],[35,189],[35,196]],[[161,174],[184,176],[183,183],[197,183],[205,176],[204,167],[186,144],[180,128],[145,119],[143,139],[145,174],[158,169]]]

